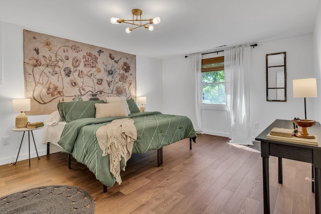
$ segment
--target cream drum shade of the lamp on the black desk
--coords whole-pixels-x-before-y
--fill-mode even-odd
[[[293,97],[317,97],[316,79],[293,80]]]

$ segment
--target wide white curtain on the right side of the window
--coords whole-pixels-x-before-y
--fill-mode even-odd
[[[250,46],[224,51],[230,143],[253,145],[250,133]]]

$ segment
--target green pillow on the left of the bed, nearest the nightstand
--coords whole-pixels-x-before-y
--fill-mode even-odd
[[[96,115],[95,103],[104,103],[103,100],[72,101],[58,103],[58,111],[63,121],[70,122],[81,118],[94,118]]]

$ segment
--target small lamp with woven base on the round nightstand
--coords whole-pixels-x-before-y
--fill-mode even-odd
[[[28,117],[24,111],[30,111],[30,99],[13,99],[12,100],[13,111],[20,111],[16,117],[16,128],[26,128],[28,123]]]

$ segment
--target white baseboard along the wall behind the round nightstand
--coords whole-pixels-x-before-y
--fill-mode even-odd
[[[50,154],[56,153],[56,152],[61,152],[61,148],[56,145],[50,144]],[[39,155],[39,157],[47,155],[47,149],[38,150],[38,155]],[[34,158],[34,157],[37,157],[37,152],[36,151],[30,152],[30,158]],[[5,165],[5,164],[10,164],[12,162],[16,162],[16,158],[17,158],[17,154],[15,154],[12,157],[0,159],[0,165]],[[18,161],[27,160],[27,159],[29,159],[29,153],[27,152],[27,153],[23,154],[20,152],[19,157],[18,157]]]

